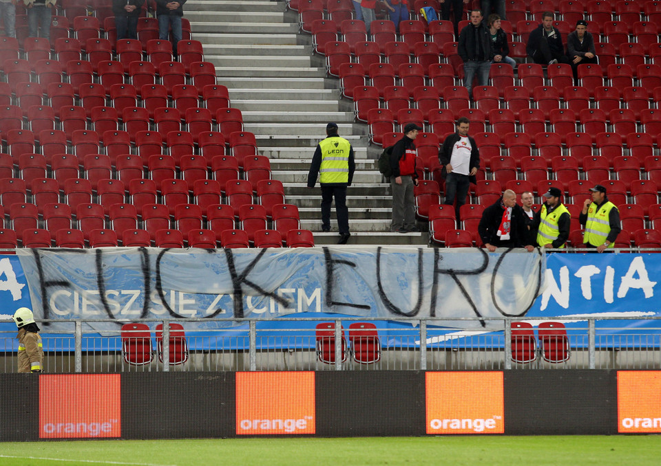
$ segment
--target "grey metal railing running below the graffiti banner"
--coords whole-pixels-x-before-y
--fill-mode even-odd
[[[521,359],[513,354],[518,349],[512,344],[510,327],[512,322],[524,319],[481,320],[486,322],[487,329],[476,327],[473,318],[369,319],[375,324],[376,336],[371,337],[367,346],[364,346],[366,340],[348,329],[353,322],[365,322],[365,318],[288,318],[269,328],[260,328],[264,320],[246,319],[233,320],[233,326],[227,328],[203,330],[194,329],[193,324],[209,324],[207,319],[136,320],[130,322],[147,324],[149,336],[135,338],[121,335],[118,324],[128,321],[59,320],[39,324],[44,369],[48,373],[661,368],[661,318],[658,317],[563,318],[562,322],[567,324],[566,338],[563,337],[567,359],[549,361],[541,337],[534,333],[532,340],[536,348],[528,348],[532,360],[525,363],[517,362]],[[556,317],[525,321],[558,320]],[[616,321],[632,322],[631,326],[623,327],[617,326]],[[70,330],[51,333],[48,325],[44,325],[46,322],[64,323]],[[111,322],[117,324],[117,329],[101,334],[89,325]],[[171,334],[171,322],[182,324],[185,329],[189,326],[185,336]],[[319,337],[315,326],[321,322],[333,322],[334,326],[330,334]],[[155,331],[157,324],[162,324],[162,335]],[[227,321],[223,324],[227,325]],[[138,345],[132,347],[130,343]],[[17,347],[15,331],[0,331],[0,372],[17,371]],[[140,359],[142,356],[136,359],[136,354],[144,359]]]

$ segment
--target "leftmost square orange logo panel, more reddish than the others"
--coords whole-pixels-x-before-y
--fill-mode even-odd
[[[120,437],[119,374],[39,376],[39,438]]]

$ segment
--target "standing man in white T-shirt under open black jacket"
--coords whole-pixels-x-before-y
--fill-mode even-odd
[[[475,174],[480,168],[480,151],[475,140],[468,135],[470,121],[461,117],[457,120],[457,132],[443,141],[439,151],[439,161],[443,165],[441,177],[445,178],[445,204],[457,205],[454,211],[459,220],[459,210],[466,203],[466,195],[471,183],[476,182]]]

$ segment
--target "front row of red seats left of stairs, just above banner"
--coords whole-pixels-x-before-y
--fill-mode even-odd
[[[48,230],[39,228],[23,231],[22,247],[85,247],[85,238],[82,230],[63,228],[57,230],[54,240]],[[200,247],[227,249],[251,247],[248,235],[244,230],[224,230],[220,240],[212,230],[197,229],[187,232],[187,241],[180,230],[158,230],[154,240],[155,247]],[[14,230],[0,229],[0,249],[15,249],[18,246],[17,235]],[[146,230],[123,230],[121,238],[115,230],[96,229],[90,231],[87,238],[89,247],[150,247],[151,240]],[[309,230],[290,230],[284,240],[286,247],[314,247],[314,238]],[[257,230],[252,247],[283,247],[283,240],[277,230]]]

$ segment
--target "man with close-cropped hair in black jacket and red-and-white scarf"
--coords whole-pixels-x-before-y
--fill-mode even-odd
[[[482,243],[490,251],[496,247],[523,247],[531,252],[534,246],[527,241],[523,209],[516,203],[516,193],[505,190],[496,203],[485,208],[477,230]]]

